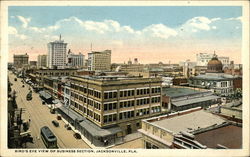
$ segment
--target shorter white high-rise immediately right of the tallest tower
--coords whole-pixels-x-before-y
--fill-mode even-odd
[[[84,55],[81,53],[74,54],[69,49],[68,54],[67,54],[67,66],[69,68],[82,68],[82,67],[84,67]]]

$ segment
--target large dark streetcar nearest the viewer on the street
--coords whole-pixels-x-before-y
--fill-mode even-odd
[[[58,148],[57,138],[49,127],[44,126],[41,128],[41,138],[47,148]]]

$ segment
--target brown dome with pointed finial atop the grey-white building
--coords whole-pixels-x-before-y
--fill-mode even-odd
[[[221,73],[222,72],[222,63],[218,60],[217,56],[214,54],[213,58],[207,64],[208,73]]]

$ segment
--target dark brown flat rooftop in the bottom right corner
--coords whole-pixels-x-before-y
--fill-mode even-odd
[[[230,149],[242,148],[242,128],[228,125],[221,128],[195,134],[195,140],[208,148],[216,148],[217,144]]]

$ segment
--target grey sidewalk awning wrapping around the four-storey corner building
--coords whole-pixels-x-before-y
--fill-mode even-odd
[[[118,132],[121,132],[121,128],[118,125],[112,126],[110,128],[100,128],[90,120],[86,119],[82,115],[78,114],[71,108],[67,108],[66,106],[61,106],[57,108],[64,112],[64,114],[69,115],[69,117],[73,120],[77,119],[80,123],[79,125],[83,127],[85,130],[89,132],[94,137],[106,137],[106,136],[111,136],[115,135]],[[69,113],[69,114],[68,114]]]

